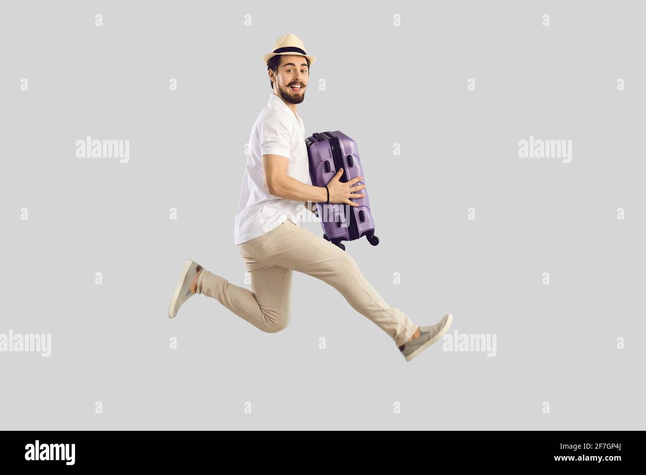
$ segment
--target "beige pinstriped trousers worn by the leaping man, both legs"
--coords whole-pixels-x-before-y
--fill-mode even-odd
[[[292,271],[333,286],[352,308],[388,333],[397,346],[406,343],[417,329],[405,313],[380,297],[347,252],[289,219],[237,248],[251,276],[253,291],[203,269],[197,293],[213,297],[263,332],[279,332],[289,324]],[[328,310],[342,313],[342,309]]]

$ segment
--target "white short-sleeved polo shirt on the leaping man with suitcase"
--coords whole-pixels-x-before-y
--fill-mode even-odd
[[[289,158],[287,174],[307,185],[312,184],[303,120],[273,92],[251,129],[247,167],[236,211],[236,245],[271,231],[287,218],[302,226],[299,218],[303,211],[299,213],[299,209],[304,209],[304,204],[269,195],[265,188],[262,156],[267,154],[286,156]]]

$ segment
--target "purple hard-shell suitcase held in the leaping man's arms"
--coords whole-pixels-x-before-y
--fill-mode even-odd
[[[357,176],[364,176],[357,142],[340,131],[312,134],[305,140],[309,158],[309,176],[314,186],[326,186],[329,180],[342,168],[340,182],[348,182]],[[365,179],[365,176],[364,176]],[[357,185],[364,184],[357,182]],[[357,191],[365,193],[363,198],[351,201],[359,206],[343,203],[317,203],[318,217],[323,226],[323,237],[345,250],[341,241],[353,241],[366,236],[373,246],[379,244],[375,236],[375,223],[370,213],[367,187]]]

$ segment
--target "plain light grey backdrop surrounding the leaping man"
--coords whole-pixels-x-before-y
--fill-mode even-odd
[[[643,6],[322,7],[2,3],[0,333],[52,333],[52,355],[0,353],[1,427],[643,429]],[[244,285],[244,145],[287,32],[317,56],[306,133],[359,144],[381,242],[349,253],[416,323],[495,333],[495,357],[435,344],[406,363],[298,273],[284,332],[201,295],[168,319],[189,257]],[[130,162],[76,158],[87,135],[130,140]],[[572,140],[572,162],[519,158],[530,135]]]

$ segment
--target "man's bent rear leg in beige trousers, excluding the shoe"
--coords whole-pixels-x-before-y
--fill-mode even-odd
[[[213,297],[263,332],[284,330],[291,313],[292,271],[251,259],[245,260],[245,265],[253,291],[203,269],[198,275],[196,293]]]

